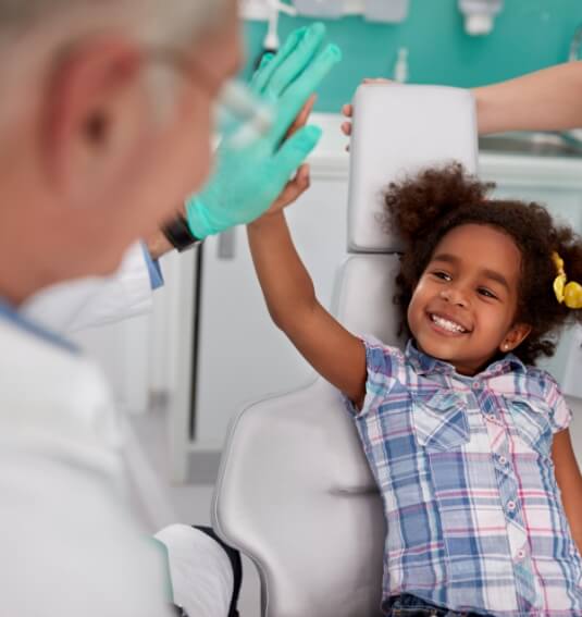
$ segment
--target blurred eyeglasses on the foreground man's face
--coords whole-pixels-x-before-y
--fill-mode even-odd
[[[203,88],[215,99],[216,129],[230,147],[246,148],[271,129],[273,107],[256,97],[246,85],[235,79],[219,84],[196,59],[177,49],[157,47],[149,49],[148,55],[176,67],[195,86]]]

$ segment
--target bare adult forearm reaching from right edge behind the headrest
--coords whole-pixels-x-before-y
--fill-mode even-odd
[[[582,62],[568,62],[472,92],[481,135],[582,126]]]

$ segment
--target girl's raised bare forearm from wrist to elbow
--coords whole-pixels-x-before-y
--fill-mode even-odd
[[[247,232],[269,313],[288,333],[318,304],[313,282],[295,249],[283,212],[255,221]]]

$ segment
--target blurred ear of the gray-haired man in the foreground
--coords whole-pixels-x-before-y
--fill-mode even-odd
[[[41,157],[63,200],[83,203],[139,156],[149,115],[141,63],[138,48],[96,39],[73,48],[47,79]]]

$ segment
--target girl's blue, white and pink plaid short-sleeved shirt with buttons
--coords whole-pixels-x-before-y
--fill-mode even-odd
[[[582,556],[554,476],[570,410],[509,354],[470,378],[368,338],[356,414],[387,521],[384,600],[503,617],[582,616]]]

